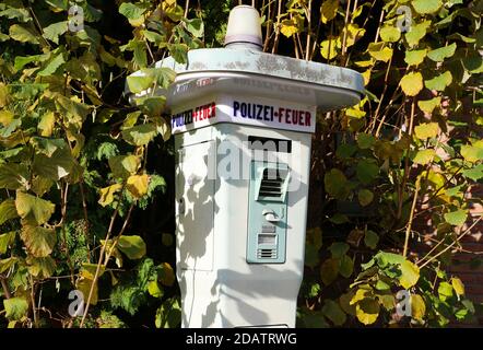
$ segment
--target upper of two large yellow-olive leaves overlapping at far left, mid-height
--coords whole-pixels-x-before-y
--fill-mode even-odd
[[[16,192],[15,207],[22,219],[37,225],[46,223],[56,209],[52,202],[22,191]]]

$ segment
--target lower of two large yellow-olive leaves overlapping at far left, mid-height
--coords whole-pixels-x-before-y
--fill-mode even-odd
[[[38,258],[50,255],[57,242],[56,232],[42,226],[25,225],[22,228],[20,237],[27,250]]]

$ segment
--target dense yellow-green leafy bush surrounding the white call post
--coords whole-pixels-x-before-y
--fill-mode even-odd
[[[167,86],[154,61],[220,47],[238,2],[75,1],[83,31],[73,1],[0,3],[2,327],[179,325],[165,98],[131,106],[123,89],[139,69],[132,91]],[[355,69],[367,89],[318,116],[299,326],[474,319],[448,266],[482,214],[483,1],[255,5],[266,51]],[[402,289],[412,318],[394,312]]]

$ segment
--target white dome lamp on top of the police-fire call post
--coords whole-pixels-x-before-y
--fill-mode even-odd
[[[229,12],[225,47],[262,50],[260,14],[250,5],[238,5]]]

